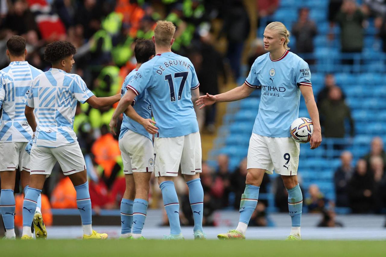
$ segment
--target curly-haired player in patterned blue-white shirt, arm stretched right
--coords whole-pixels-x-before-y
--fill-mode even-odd
[[[46,176],[56,161],[69,176],[76,190],[76,203],[83,225],[83,239],[105,239],[107,234],[91,228],[91,200],[88,192],[86,164],[80,150],[73,121],[77,100],[93,108],[110,106],[120,94],[97,98],[77,74],[70,74],[76,49],[70,42],[48,44],[44,59],[52,68],[38,75],[24,97],[25,117],[35,137],[30,149],[30,184],[23,202],[22,239],[31,239],[30,224],[36,201]]]

